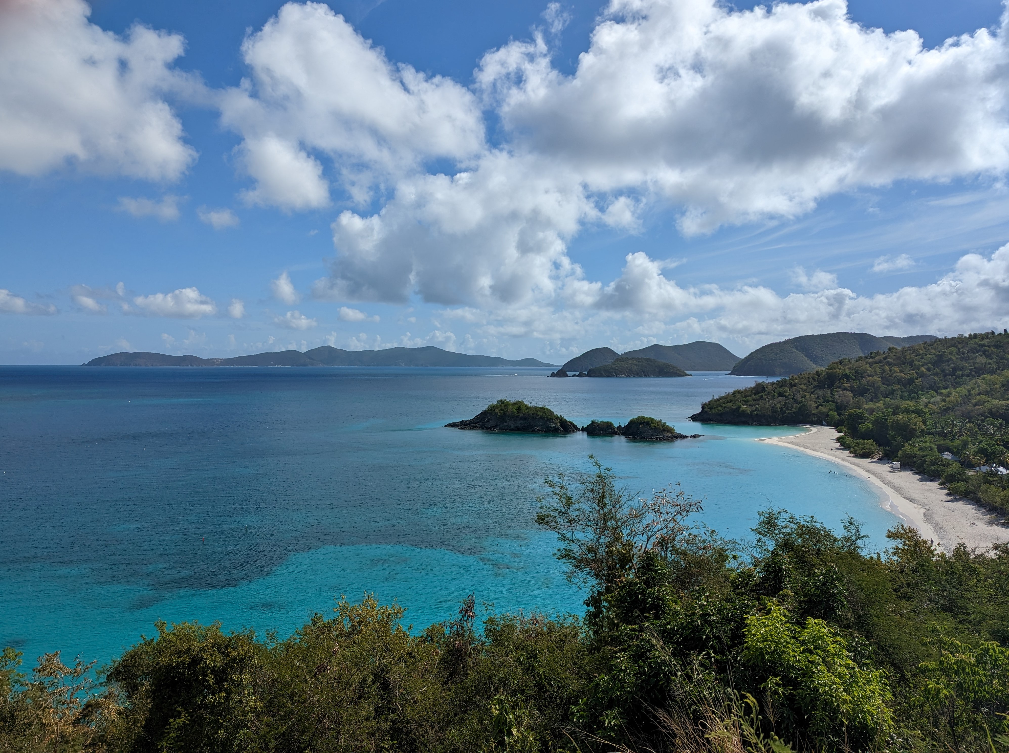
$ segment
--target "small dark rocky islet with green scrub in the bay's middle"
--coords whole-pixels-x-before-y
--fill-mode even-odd
[[[573,421],[554,413],[546,406],[529,405],[522,400],[504,398],[491,403],[473,418],[453,421],[445,426],[449,429],[523,434],[573,434],[583,431],[590,437],[624,436],[650,442],[671,442],[688,438],[665,421],[651,416],[633,418],[628,421],[627,426],[613,426],[611,421],[591,421],[579,429]],[[699,436],[700,434],[690,435],[692,438]]]

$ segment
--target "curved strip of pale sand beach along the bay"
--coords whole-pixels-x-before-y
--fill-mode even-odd
[[[880,495],[880,504],[918,529],[949,552],[963,541],[969,549],[984,551],[992,544],[1009,541],[1009,527],[1000,525],[1001,516],[963,498],[947,497],[937,481],[909,470],[890,470],[888,462],[850,455],[834,441],[837,432],[825,426],[807,426],[807,431],[791,437],[761,439],[816,455],[860,473]]]

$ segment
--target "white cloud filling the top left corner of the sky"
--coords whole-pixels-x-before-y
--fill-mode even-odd
[[[141,25],[119,37],[90,12],[83,0],[0,3],[0,170],[179,178],[196,152],[164,95],[199,88],[172,68],[183,38]]]

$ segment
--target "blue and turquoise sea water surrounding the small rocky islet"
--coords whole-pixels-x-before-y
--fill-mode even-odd
[[[681,482],[745,537],[769,505],[871,545],[898,520],[863,480],[755,441],[795,429],[692,424],[750,378],[551,380],[549,369],[0,366],[0,646],[106,661],[153,623],[287,635],[345,594],[420,628],[470,591],[497,612],[580,613],[533,516],[543,478],[594,453],[632,491]],[[500,397],[579,425],[645,414],[700,439],[444,428]]]

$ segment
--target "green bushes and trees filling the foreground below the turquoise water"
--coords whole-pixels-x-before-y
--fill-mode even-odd
[[[594,461],[593,461],[594,462]],[[94,675],[0,662],[2,751],[1004,751],[1009,547],[883,552],[767,510],[751,541],[600,466],[546,481],[538,523],[583,618],[421,632],[341,600],[290,637],[156,626]],[[70,626],[69,629],[72,629]]]

